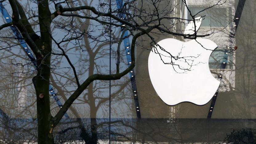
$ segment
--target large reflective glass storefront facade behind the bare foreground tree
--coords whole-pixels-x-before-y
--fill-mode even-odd
[[[100,3],[101,5],[99,1],[78,1],[70,2],[69,6],[88,5],[107,12],[106,3],[109,2]],[[111,3],[113,11],[126,5],[125,1],[118,0]],[[2,4],[11,15],[9,2]],[[28,16],[34,11],[26,6],[36,5],[30,2],[22,3]],[[218,0],[133,2],[130,7],[141,8],[142,14],[140,18],[132,20],[141,24],[147,21],[147,16],[151,14],[152,18],[157,17],[155,13],[159,11],[154,11],[157,8],[162,14],[160,17],[170,17],[163,19],[160,27],[174,33],[184,33],[188,22],[193,19],[191,14],[194,17],[203,17],[197,35],[206,35],[203,38],[218,45],[209,58],[210,72],[220,81],[218,90],[204,105],[191,102],[167,105],[154,90],[149,76],[148,58],[155,44],[148,35],[143,35],[136,41],[134,69],[118,80],[95,80],[90,83],[53,129],[55,142],[256,143],[255,5],[256,2],[250,0],[227,0],[219,3]],[[63,7],[68,6],[63,4]],[[54,9],[54,4],[51,8]],[[134,11],[125,14],[115,11],[113,14],[128,21],[128,18],[132,17],[128,14],[137,14]],[[83,16],[97,16],[90,10],[80,12]],[[8,22],[7,19],[2,10],[0,25]],[[74,21],[72,25],[70,21]],[[125,26],[125,23],[115,22],[114,19],[111,21],[102,18],[102,21],[112,22],[110,34],[106,32],[109,30],[107,25],[93,19],[57,17],[52,22],[52,35],[58,41],[82,35],[61,43],[77,71],[80,82],[93,74],[116,74],[119,71],[121,73],[131,65],[131,44],[136,32],[131,34],[129,30],[116,26]],[[30,23],[34,24],[34,30],[39,30],[37,21],[32,16]],[[155,24],[157,22],[141,27]],[[35,143],[38,137],[37,99],[32,78],[37,73],[36,66],[31,61],[30,52],[26,51],[30,48],[20,45],[22,42],[17,38],[13,39],[18,33],[13,29],[6,27],[0,30],[0,141]],[[155,42],[166,38],[182,42],[191,40],[186,36],[163,32],[159,29],[152,30],[149,35],[154,37]],[[170,43],[171,48],[172,46]],[[77,89],[72,67],[61,53],[53,43],[49,88],[53,116]],[[191,70],[196,66],[192,66]],[[200,74],[197,76],[200,77]],[[171,83],[175,84],[175,81]],[[204,82],[192,84],[197,83],[200,83],[198,87],[204,85]],[[172,94],[170,90],[166,92]]]

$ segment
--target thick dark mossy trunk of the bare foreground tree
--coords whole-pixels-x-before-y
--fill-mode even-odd
[[[42,58],[37,58],[38,73],[34,82],[37,97],[38,144],[53,144],[52,131],[55,125],[50,112],[49,94],[52,51],[51,12],[47,0],[38,3],[38,14],[41,41],[37,45],[43,52]]]

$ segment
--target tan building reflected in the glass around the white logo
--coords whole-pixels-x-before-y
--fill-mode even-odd
[[[182,1],[171,2],[173,5],[179,5],[174,8],[174,15],[170,17],[192,19],[190,12],[192,15],[197,14],[218,1],[187,1],[190,12],[180,4]],[[163,7],[166,4],[163,4]],[[214,32],[206,38],[218,45],[210,56],[209,68],[221,84],[213,98],[205,105],[198,106],[189,102],[175,106],[166,105],[150,82],[147,71],[150,51],[137,49],[136,78],[141,110],[138,125],[139,129],[146,133],[138,133],[139,139],[145,142],[148,140],[171,143],[219,142],[233,130],[255,128],[256,111],[252,104],[255,99],[255,66],[252,63],[256,60],[253,52],[256,47],[252,44],[253,36],[246,37],[247,34],[254,34],[252,26],[255,17],[251,14],[254,5],[255,2],[252,1],[227,1],[195,16],[204,16],[198,34]],[[173,26],[173,23],[176,25]],[[168,24],[177,32],[184,30],[186,26],[178,20],[166,22],[166,25]],[[170,35],[157,37],[156,42],[165,38],[190,41]],[[142,45],[146,45],[146,42]],[[154,133],[150,131],[151,128],[157,131],[154,131],[155,135],[149,134]]]

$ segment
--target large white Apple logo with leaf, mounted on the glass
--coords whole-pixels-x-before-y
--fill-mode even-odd
[[[195,19],[198,30],[202,18]],[[191,21],[184,34],[194,34],[193,29]],[[209,102],[220,85],[209,69],[210,54],[217,47],[213,41],[203,38],[188,42],[173,38],[159,41],[149,54],[148,69],[152,85],[162,101],[167,105]]]

